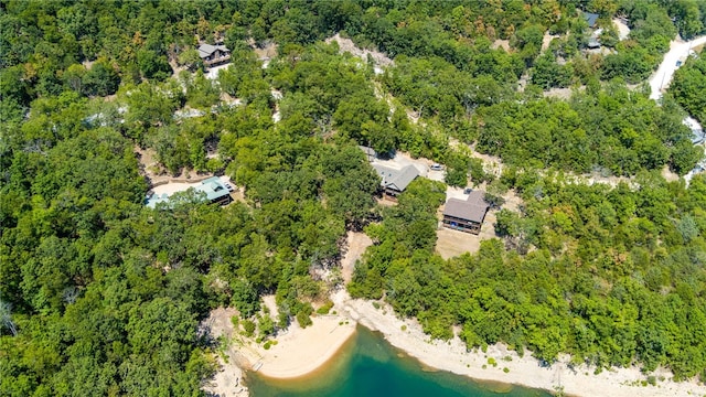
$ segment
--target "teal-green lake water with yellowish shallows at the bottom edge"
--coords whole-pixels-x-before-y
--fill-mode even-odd
[[[498,371],[498,368],[485,369]],[[425,367],[392,346],[382,334],[359,326],[322,368],[295,379],[247,375],[253,397],[548,397],[544,390],[494,383]]]

